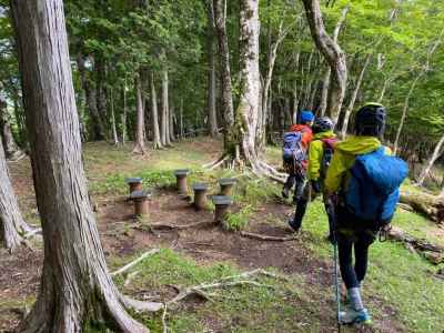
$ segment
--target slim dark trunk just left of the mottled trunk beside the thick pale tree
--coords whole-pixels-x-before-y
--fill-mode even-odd
[[[218,135],[218,115],[215,108],[215,54],[214,54],[214,12],[212,0],[208,1],[208,53],[209,53],[209,77],[208,77],[208,114],[209,132],[211,137]]]

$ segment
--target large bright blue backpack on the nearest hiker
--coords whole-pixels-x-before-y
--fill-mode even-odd
[[[375,229],[390,223],[400,200],[400,186],[408,175],[407,164],[386,155],[385,148],[357,155],[345,192],[345,205],[364,221],[375,222]]]

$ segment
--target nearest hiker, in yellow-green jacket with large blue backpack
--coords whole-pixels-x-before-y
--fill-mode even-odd
[[[380,141],[385,118],[381,104],[361,108],[355,117],[355,135],[336,145],[326,172],[325,188],[334,202],[341,276],[350,303],[345,311],[339,311],[341,324],[371,321],[361,297],[369,248],[391,223],[400,185],[408,173],[406,163],[391,157],[390,149]]]

